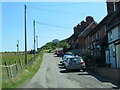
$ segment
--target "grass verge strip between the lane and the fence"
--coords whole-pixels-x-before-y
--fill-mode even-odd
[[[13,79],[2,82],[2,88],[17,88],[26,80],[32,78],[40,68],[43,52],[41,52],[36,61],[32,65],[28,65],[27,69],[20,71]]]

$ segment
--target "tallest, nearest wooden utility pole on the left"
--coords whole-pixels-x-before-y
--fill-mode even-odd
[[[26,30],[26,9],[27,9],[27,6],[25,5],[24,6],[24,11],[25,11],[25,65],[26,65],[26,68],[27,68],[27,30]]]

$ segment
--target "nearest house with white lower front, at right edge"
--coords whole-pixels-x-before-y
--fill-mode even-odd
[[[106,64],[113,68],[120,68],[120,1],[107,2],[111,5],[108,14],[112,13],[107,21],[106,33],[108,35],[108,49],[106,50]]]

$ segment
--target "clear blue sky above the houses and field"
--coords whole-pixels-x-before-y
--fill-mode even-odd
[[[27,50],[33,49],[33,20],[39,47],[53,39],[66,39],[73,28],[94,17],[99,23],[107,15],[106,2],[3,2],[2,51],[24,50],[24,5],[27,5]],[[42,24],[40,24],[42,23]],[[47,25],[46,25],[47,24]],[[49,26],[48,26],[49,25]],[[55,27],[59,26],[59,27]]]

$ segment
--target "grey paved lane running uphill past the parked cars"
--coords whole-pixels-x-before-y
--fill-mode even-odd
[[[60,60],[45,53],[38,72],[20,88],[117,88],[113,81],[92,72],[66,72]]]

